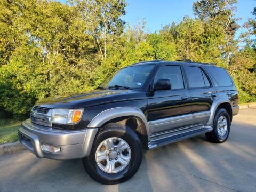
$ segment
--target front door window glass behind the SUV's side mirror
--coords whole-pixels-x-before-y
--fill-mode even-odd
[[[158,79],[167,78],[171,82],[171,89],[184,89],[184,83],[180,66],[163,66],[155,76],[155,83]]]

